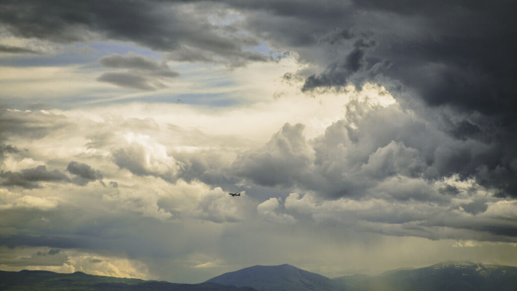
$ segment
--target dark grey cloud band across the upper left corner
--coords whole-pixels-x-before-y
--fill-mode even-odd
[[[207,14],[221,12],[217,3],[118,1],[5,1],[0,21],[9,32],[25,38],[68,43],[89,39],[133,41],[148,48],[172,52],[188,61],[184,51],[195,51],[195,60],[222,59],[231,65],[266,61],[266,56],[245,51],[260,43],[231,27],[208,21]],[[175,53],[177,52],[177,53]],[[203,56],[205,55],[205,56]]]

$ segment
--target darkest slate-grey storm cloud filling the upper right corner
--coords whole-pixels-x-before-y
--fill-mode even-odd
[[[327,68],[319,79],[308,78],[306,90],[344,86],[350,77],[363,73],[354,70],[360,67],[358,60],[370,60],[372,66],[390,64],[374,72],[371,80],[399,81],[430,106],[447,104],[509,117],[517,105],[511,97],[515,61],[508,57],[517,45],[515,31],[508,29],[513,2],[227,3],[250,13],[245,22],[250,30],[267,34],[278,46],[290,47],[306,61]],[[322,37],[336,30],[344,32],[344,41],[336,41],[339,33]],[[375,41],[374,48],[350,46],[364,34]],[[328,46],[321,41],[325,39]],[[336,78],[330,78],[332,72],[338,73]]]

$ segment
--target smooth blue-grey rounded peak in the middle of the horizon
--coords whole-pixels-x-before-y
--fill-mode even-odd
[[[249,286],[258,291],[337,291],[343,290],[327,277],[298,269],[291,265],[253,266],[224,273],[207,283]]]

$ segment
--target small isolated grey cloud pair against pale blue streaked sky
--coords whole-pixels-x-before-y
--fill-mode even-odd
[[[165,86],[161,81],[179,76],[179,73],[171,70],[166,63],[159,64],[134,53],[104,56],[99,62],[104,67],[126,71],[105,72],[97,78],[98,81],[131,89],[153,91]]]

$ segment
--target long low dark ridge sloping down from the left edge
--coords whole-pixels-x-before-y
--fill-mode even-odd
[[[250,287],[237,288],[216,283],[175,284],[88,275],[82,272],[60,274],[48,271],[0,271],[0,290],[74,290],[74,291],[256,291]]]

